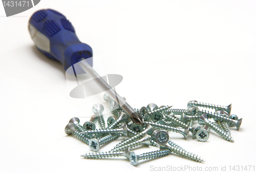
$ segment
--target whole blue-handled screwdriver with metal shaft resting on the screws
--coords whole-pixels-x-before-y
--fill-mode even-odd
[[[37,49],[50,59],[59,61],[67,71],[77,63],[79,70],[75,75],[86,72],[99,87],[112,99],[136,124],[143,118],[92,68],[92,48],[79,41],[70,21],[61,13],[44,9],[36,11],[29,19],[29,33]]]

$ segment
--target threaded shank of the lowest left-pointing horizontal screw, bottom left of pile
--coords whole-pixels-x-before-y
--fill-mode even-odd
[[[123,152],[100,152],[100,153],[87,153],[82,155],[86,159],[104,159],[123,156]]]

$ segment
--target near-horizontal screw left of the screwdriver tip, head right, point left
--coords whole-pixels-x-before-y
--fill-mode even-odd
[[[101,134],[113,134],[113,133],[120,133],[123,136],[127,137],[127,125],[124,123],[121,128],[115,128],[115,129],[96,129],[94,131],[84,131],[81,132],[83,134],[96,134],[96,135],[101,135]]]

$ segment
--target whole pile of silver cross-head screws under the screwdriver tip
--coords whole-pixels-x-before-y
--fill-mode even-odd
[[[94,115],[83,126],[79,124],[78,118],[72,118],[65,128],[66,134],[75,135],[88,144],[94,152],[82,155],[86,159],[124,156],[130,160],[132,165],[136,165],[139,160],[159,158],[173,152],[190,160],[204,162],[198,155],[187,152],[181,146],[170,141],[168,132],[180,133],[185,139],[190,132],[193,138],[204,142],[209,138],[209,130],[211,129],[227,141],[234,142],[229,127],[236,126],[239,130],[242,123],[242,118],[238,119],[236,115],[230,115],[231,104],[221,106],[191,100],[187,103],[187,109],[171,109],[172,106],[158,107],[154,103],[148,104],[147,107],[143,106],[140,110],[135,109],[144,120],[143,124],[140,125],[133,123],[120,109],[116,101],[113,101],[108,95],[104,95],[104,100],[109,102],[112,114],[117,116],[117,119],[112,116],[108,118],[108,127],[105,127],[105,120],[102,115],[103,105],[95,104],[92,108]],[[205,109],[199,110],[198,107]],[[206,111],[206,109],[215,112]],[[217,126],[209,119],[214,119],[219,125]],[[96,121],[99,123],[99,129],[96,129]],[[193,121],[197,121],[199,125],[192,127]],[[118,143],[109,152],[96,153],[100,146],[121,135],[129,138]],[[130,152],[132,148],[141,144],[156,146],[158,150],[140,155]]]

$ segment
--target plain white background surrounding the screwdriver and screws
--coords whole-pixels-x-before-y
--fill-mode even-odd
[[[133,107],[154,102],[186,109],[193,99],[232,103],[231,113],[243,118],[240,131],[231,129],[235,142],[214,132],[207,142],[169,133],[205,163],[175,154],[136,167],[126,158],[82,159],[80,155],[91,151],[65,134],[66,124],[72,117],[83,124],[95,103],[105,106],[105,114],[109,107],[103,94],[71,98],[62,65],[35,48],[28,21],[46,8],[66,15],[79,39],[92,47],[96,71],[101,64],[106,74],[123,76],[116,90]],[[255,8],[255,1],[41,0],[28,11],[5,17],[0,5],[0,171],[139,172],[167,165],[217,166],[220,171],[224,165],[226,170],[229,165],[255,165]],[[135,151],[153,150],[157,148]]]

